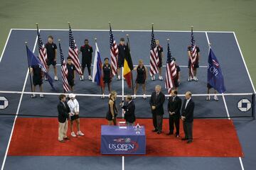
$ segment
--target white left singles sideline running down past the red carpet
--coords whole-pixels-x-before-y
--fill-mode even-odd
[[[37,40],[38,40],[38,37],[36,36],[36,42],[37,42]],[[36,42],[35,42],[35,45],[34,45],[34,47],[33,47],[33,52],[35,52],[35,49],[36,49]],[[21,98],[20,98],[20,100],[19,100],[19,102],[18,102],[18,108],[17,108],[16,115],[15,115],[15,118],[14,118],[14,124],[13,124],[13,126],[12,126],[12,128],[11,128],[11,135],[10,135],[10,137],[9,137],[9,142],[8,142],[7,147],[6,147],[6,153],[4,154],[4,161],[3,161],[3,163],[2,163],[1,170],[4,170],[4,165],[5,165],[5,162],[6,162],[7,153],[8,153],[8,151],[9,151],[9,147],[10,147],[10,143],[11,143],[11,137],[12,137],[12,135],[13,135],[13,133],[14,133],[14,126],[15,126],[15,123],[16,123],[16,119],[17,119],[17,117],[18,117],[18,111],[19,111],[19,109],[20,109],[20,107],[21,107],[21,101],[22,101],[22,98],[23,98],[23,92],[25,91],[26,81],[27,81],[27,79],[28,79],[28,74],[29,74],[29,69],[28,69],[28,71],[27,71],[27,73],[26,73],[26,78],[25,78],[25,81],[24,81],[24,84],[23,84],[23,89],[22,89],[22,91],[21,91]]]

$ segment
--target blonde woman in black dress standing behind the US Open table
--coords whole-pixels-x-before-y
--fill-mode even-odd
[[[107,111],[108,125],[117,125],[117,106],[116,106],[117,92],[111,91],[110,101],[108,102],[109,109]]]

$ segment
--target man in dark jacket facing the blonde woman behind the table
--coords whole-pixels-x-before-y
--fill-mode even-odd
[[[130,95],[127,95],[125,99],[127,101],[127,105],[122,106],[122,108],[124,109],[124,119],[127,125],[134,125],[134,122],[136,120],[134,101],[132,101],[132,96]]]

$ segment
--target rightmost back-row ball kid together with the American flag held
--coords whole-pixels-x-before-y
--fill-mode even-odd
[[[200,49],[193,38],[193,26],[191,26],[191,45],[188,46],[188,81],[198,81],[196,69],[199,68]]]

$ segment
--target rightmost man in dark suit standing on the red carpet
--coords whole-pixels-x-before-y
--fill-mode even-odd
[[[193,141],[193,110],[195,108],[195,103],[191,96],[191,92],[187,91],[181,110],[181,120],[183,120],[183,130],[185,133],[185,137],[181,140],[188,140],[187,143]]]

